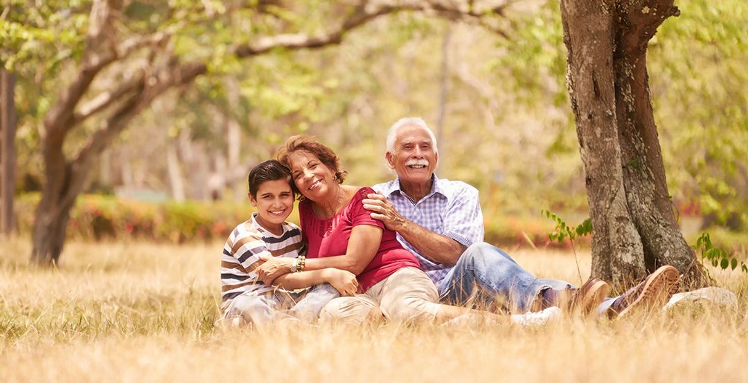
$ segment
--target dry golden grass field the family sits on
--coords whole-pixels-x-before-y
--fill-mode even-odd
[[[0,382],[748,382],[748,276],[737,272],[711,271],[738,294],[737,312],[222,331],[222,243],[68,243],[57,270],[34,270],[28,238],[1,241]],[[514,255],[536,275],[579,280],[571,254]]]

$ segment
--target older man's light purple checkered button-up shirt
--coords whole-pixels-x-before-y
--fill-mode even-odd
[[[402,217],[430,231],[450,237],[465,247],[483,240],[483,214],[478,190],[465,182],[432,175],[431,192],[418,202],[400,190],[399,179],[375,184],[373,189],[386,196]],[[452,267],[426,258],[399,233],[397,240],[416,255],[423,271],[438,287]]]

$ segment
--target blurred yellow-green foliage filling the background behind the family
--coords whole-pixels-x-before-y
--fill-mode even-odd
[[[340,46],[253,60],[236,59],[229,47],[267,31],[319,31],[328,15],[339,11],[338,3],[298,1],[290,12],[275,1],[124,2],[120,31],[170,31],[174,38],[163,49],[184,60],[208,61],[210,73],[157,99],[105,152],[89,193],[116,194],[125,202],[87,196],[101,211],[114,206],[110,215],[140,217],[126,211],[141,209],[146,218],[138,219],[147,221],[178,210],[167,201],[219,199],[234,208],[210,219],[233,227],[248,216],[248,205],[239,214],[236,208],[246,198],[248,169],[271,157],[290,134],[313,134],[336,150],[350,184],[386,181],[391,178],[384,166],[387,128],[402,116],[417,115],[438,133],[438,175],[481,191],[489,236],[516,226],[522,237],[534,240],[533,231],[552,226],[527,220],[542,219],[542,208],[574,224],[587,216],[565,90],[558,0],[512,2],[499,23],[504,36],[479,25],[397,13],[352,31]],[[664,22],[648,55],[669,190],[687,231],[711,227],[745,244],[748,5],[744,0],[676,5],[681,16]],[[17,78],[19,194],[39,190],[43,181],[41,125],[76,70],[90,7],[87,0],[10,0],[3,7],[0,60]],[[111,89],[159,57],[144,53],[118,63],[93,88]],[[82,145],[96,124],[85,122],[67,149]],[[19,216],[31,214],[34,198],[22,199]],[[129,200],[160,205],[132,208]],[[189,204],[175,217],[223,211],[220,203]],[[73,222],[91,219],[74,214]],[[111,225],[128,225],[122,219]],[[166,218],[153,219],[153,225],[165,225]],[[512,219],[524,223],[506,223]],[[203,231],[215,232],[211,225]],[[197,235],[202,226],[193,226],[185,233]],[[169,233],[153,235],[185,235]]]

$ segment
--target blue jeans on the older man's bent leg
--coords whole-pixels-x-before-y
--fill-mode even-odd
[[[573,287],[558,279],[537,278],[497,247],[473,243],[438,286],[441,301],[465,305],[471,298],[524,313],[545,289]],[[611,302],[612,303],[612,302]],[[607,307],[606,307],[607,308]]]

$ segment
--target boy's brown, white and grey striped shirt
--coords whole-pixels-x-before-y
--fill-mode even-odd
[[[275,286],[263,284],[254,271],[260,264],[260,255],[296,258],[305,251],[301,240],[301,229],[297,225],[283,222],[283,234],[275,235],[252,218],[231,231],[221,255],[221,311],[226,311],[236,296],[241,294],[261,295],[283,292]]]

